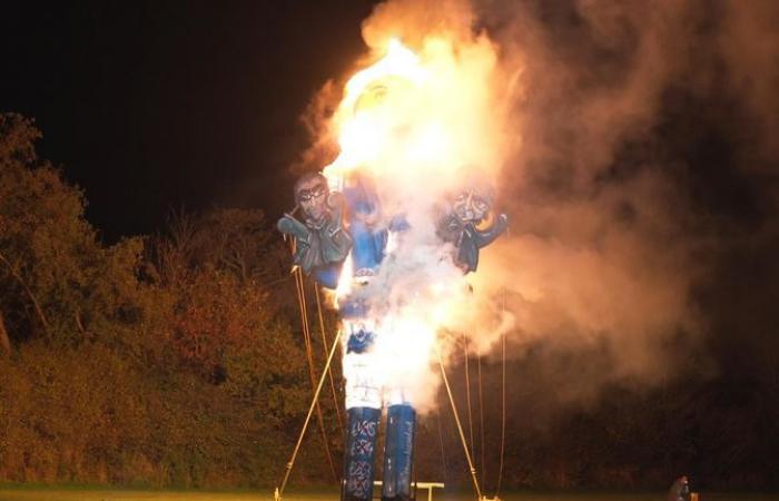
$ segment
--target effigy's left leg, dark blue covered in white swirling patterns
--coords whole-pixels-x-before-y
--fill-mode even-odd
[[[373,498],[374,458],[381,416],[381,409],[348,410],[343,501],[371,501]]]

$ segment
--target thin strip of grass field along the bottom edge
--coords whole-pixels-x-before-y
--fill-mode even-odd
[[[288,501],[337,501],[335,490],[290,491]],[[418,495],[426,501],[426,493]],[[470,492],[437,491],[435,501],[473,501]],[[0,501],[272,501],[263,491],[154,491],[100,488],[2,487]],[[664,501],[663,492],[509,492],[503,501]],[[706,501],[779,501],[779,494],[702,493]]]

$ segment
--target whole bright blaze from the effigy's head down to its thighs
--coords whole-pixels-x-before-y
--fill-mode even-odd
[[[377,225],[403,214],[411,229],[391,233],[374,283],[355,285],[348,263],[339,297],[367,287],[378,336],[377,379],[424,406],[437,386],[430,363],[437,334],[460,331],[477,310],[452,248],[435,236],[436,209],[469,176],[492,179],[500,135],[491,102],[493,47],[485,39],[424,40],[418,53],[395,38],[384,56],[345,85],[332,120],[341,153],[324,175],[334,189],[359,170],[375,181]],[[381,374],[381,377],[378,377]],[[346,375],[348,377],[348,374]]]

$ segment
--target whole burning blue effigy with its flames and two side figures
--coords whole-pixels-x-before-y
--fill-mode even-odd
[[[413,499],[415,424],[437,389],[438,335],[472,307],[467,274],[507,227],[491,153],[473,147],[489,130],[470,112],[483,96],[452,73],[463,57],[486,55],[489,68],[489,49],[456,53],[431,38],[417,55],[387,40],[384,57],[346,84],[333,120],[339,155],[298,179],[299,213],[278,222],[296,240],[294,265],[333,291],[342,318],[345,501],[373,497],[384,407],[382,499]]]

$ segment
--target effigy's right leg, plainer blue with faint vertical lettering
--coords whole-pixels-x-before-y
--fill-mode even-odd
[[[384,445],[383,501],[414,499],[411,489],[416,412],[408,404],[389,405]]]

